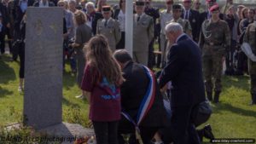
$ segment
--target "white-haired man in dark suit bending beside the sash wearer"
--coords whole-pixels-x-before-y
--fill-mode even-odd
[[[175,144],[199,144],[191,112],[195,105],[206,101],[201,50],[176,22],[166,26],[166,37],[174,44],[160,75],[160,89],[165,91],[167,83],[172,81],[172,139]]]

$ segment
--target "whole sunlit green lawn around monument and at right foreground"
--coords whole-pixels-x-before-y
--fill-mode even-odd
[[[18,92],[19,63],[9,62],[9,55],[0,60],[0,125],[20,122],[23,94]],[[88,125],[88,104],[74,98],[80,91],[76,77],[66,66],[63,76],[63,121]],[[256,138],[256,106],[249,106],[249,77],[224,77],[220,103],[212,105],[212,125],[216,138]],[[206,140],[205,140],[206,141]]]

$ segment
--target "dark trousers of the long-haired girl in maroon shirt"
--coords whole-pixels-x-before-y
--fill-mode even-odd
[[[118,144],[118,121],[96,122],[92,121],[99,144]]]

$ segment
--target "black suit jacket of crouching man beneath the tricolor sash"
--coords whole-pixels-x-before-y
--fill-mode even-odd
[[[123,69],[125,83],[121,85],[121,107],[133,120],[137,120],[137,112],[146,94],[149,78],[142,65],[130,61]],[[160,89],[156,84],[154,104],[140,126],[160,127],[166,124]]]

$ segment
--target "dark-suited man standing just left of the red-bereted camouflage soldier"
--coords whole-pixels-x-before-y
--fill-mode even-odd
[[[198,42],[200,33],[200,14],[198,11],[191,9],[191,0],[183,0],[184,11],[181,17],[184,20],[189,20],[190,26],[192,28],[192,36],[195,42]]]

